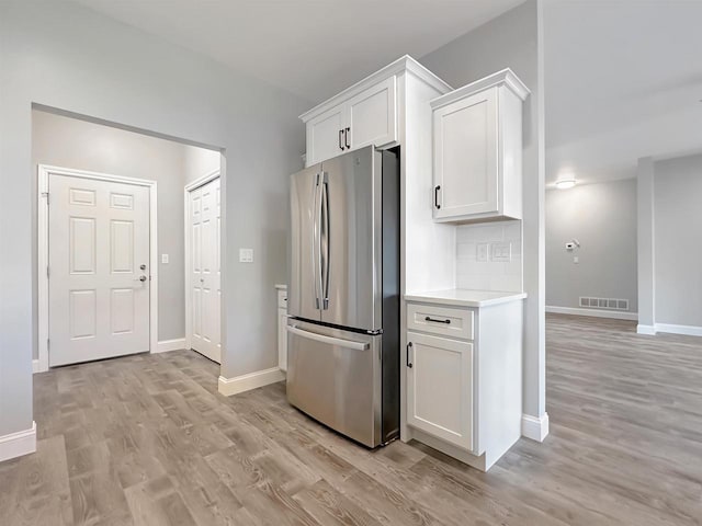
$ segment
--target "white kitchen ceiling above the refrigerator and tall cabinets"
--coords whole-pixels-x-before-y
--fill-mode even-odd
[[[75,0],[321,102],[523,0]]]

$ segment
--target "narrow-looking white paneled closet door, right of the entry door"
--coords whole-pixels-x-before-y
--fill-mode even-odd
[[[222,363],[219,179],[190,192],[191,347]]]

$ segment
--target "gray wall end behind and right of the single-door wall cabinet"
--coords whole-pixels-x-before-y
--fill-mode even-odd
[[[531,90],[523,122],[523,258],[524,290],[529,294],[524,316],[524,413],[534,416],[545,412],[541,32],[541,5],[537,0],[529,0],[420,59],[454,88],[511,68]]]

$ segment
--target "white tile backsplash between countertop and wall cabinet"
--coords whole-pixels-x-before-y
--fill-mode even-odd
[[[522,291],[522,221],[456,228],[456,287]]]

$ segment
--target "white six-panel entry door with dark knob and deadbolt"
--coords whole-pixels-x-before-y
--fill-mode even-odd
[[[49,366],[149,351],[149,187],[48,180]]]

